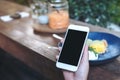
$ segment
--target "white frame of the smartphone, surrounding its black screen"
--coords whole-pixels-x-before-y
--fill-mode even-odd
[[[84,41],[84,45],[83,45],[83,49],[84,49],[84,46],[85,46],[85,43],[86,43],[86,39],[87,39],[88,33],[89,33],[89,28],[86,27],[86,26],[78,26],[78,25],[73,25],[73,24],[71,24],[71,25],[68,27],[68,29],[67,29],[67,32],[66,32],[66,35],[65,35],[65,39],[66,39],[66,36],[67,36],[67,33],[68,33],[69,29],[75,30],[75,31],[84,31],[84,32],[87,32],[87,35],[86,35],[86,38],[85,38],[85,41]],[[65,42],[65,41],[64,41],[64,42]],[[64,46],[64,43],[63,43],[63,46]],[[83,50],[82,50],[82,53],[83,53]],[[60,52],[60,54],[59,54],[59,57],[60,57],[60,56],[61,56],[61,52]],[[59,62],[59,59],[58,59],[57,62],[56,62],[56,66],[57,66],[58,68],[60,68],[60,69],[65,69],[65,70],[69,70],[69,71],[75,72],[75,71],[78,69],[78,66],[79,66],[79,64],[80,64],[81,58],[82,58],[82,54],[80,55],[80,58],[79,58],[79,61],[78,61],[78,65],[77,65],[77,66]]]

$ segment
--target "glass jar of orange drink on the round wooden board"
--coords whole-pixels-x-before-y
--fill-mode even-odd
[[[49,27],[63,29],[69,25],[69,6],[67,0],[51,0],[48,2]]]

